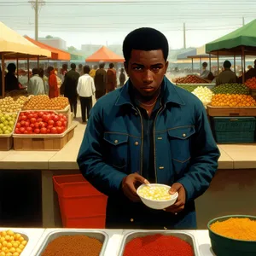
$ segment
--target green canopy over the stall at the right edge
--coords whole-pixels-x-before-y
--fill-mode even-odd
[[[241,47],[244,47],[246,55],[256,55],[256,20],[207,44],[206,52],[214,55],[241,55]]]

